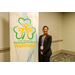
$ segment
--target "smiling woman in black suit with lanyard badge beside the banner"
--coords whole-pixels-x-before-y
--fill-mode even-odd
[[[49,28],[44,26],[44,34],[39,37],[39,62],[50,62],[50,56],[52,55],[52,36],[48,35],[48,30]]]

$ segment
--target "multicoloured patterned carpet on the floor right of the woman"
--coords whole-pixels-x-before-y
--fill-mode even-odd
[[[55,56],[52,56],[50,62],[75,62],[75,55],[59,53]]]

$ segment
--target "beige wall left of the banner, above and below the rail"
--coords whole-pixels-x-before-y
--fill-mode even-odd
[[[1,50],[9,47],[8,12],[0,12],[0,62],[10,61],[9,50]]]

